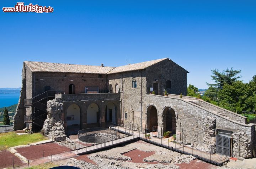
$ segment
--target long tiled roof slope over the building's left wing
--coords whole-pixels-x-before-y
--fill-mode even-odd
[[[46,62],[28,62],[25,61],[32,72],[65,72],[65,73],[88,73],[88,74],[106,74],[113,67],[90,66],[90,65],[73,65],[61,63]]]

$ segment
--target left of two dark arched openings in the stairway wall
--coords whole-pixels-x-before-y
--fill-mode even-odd
[[[153,131],[158,126],[158,110],[155,105],[150,104],[146,108],[146,128]]]

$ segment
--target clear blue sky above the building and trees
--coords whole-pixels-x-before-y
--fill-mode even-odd
[[[53,13],[4,13],[0,1],[0,87],[20,87],[22,62],[121,66],[170,58],[206,88],[211,69],[256,75],[256,1],[22,1]]]

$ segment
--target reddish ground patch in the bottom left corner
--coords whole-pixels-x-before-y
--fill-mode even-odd
[[[22,166],[24,163],[20,160],[20,158],[16,157],[14,154],[9,152],[8,150],[0,151],[0,168],[12,167],[12,157],[14,157],[14,167]]]

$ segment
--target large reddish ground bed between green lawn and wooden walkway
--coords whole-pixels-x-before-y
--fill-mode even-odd
[[[17,152],[22,156],[26,157],[28,160],[37,159],[55,155],[59,153],[64,153],[70,151],[69,148],[65,146],[60,146],[56,143],[40,144],[29,147],[16,148]]]

